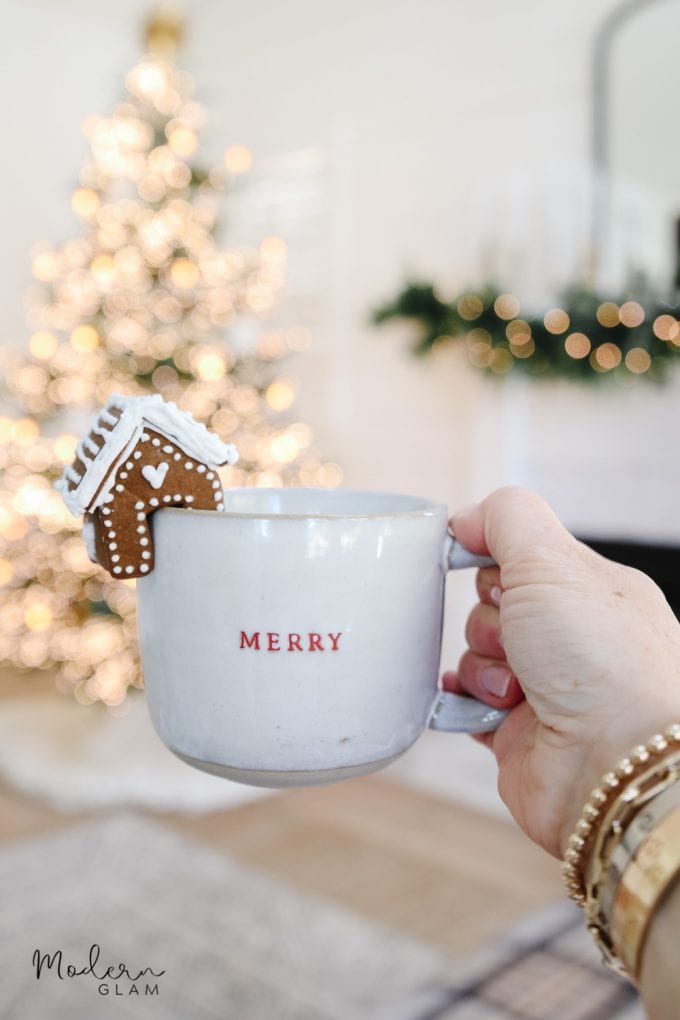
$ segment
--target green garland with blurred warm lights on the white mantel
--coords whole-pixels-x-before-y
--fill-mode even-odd
[[[540,318],[523,317],[518,299],[490,285],[443,301],[431,284],[409,283],[372,316],[391,319],[416,323],[416,354],[462,341],[470,362],[494,375],[663,381],[680,355],[680,306],[648,295],[612,301],[574,288]]]

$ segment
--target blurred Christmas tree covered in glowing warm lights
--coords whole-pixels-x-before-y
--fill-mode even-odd
[[[0,659],[56,667],[60,690],[114,711],[141,685],[134,581],[90,562],[52,490],[107,396],[160,392],[234,443],[226,486],[342,477],[312,455],[310,428],[283,417],[295,393],[275,362],[306,345],[305,330],[266,322],[283,241],[218,247],[218,193],[250,154],[234,146],[209,172],[194,163],[204,113],[172,61],[180,36],[176,19],[153,18],[123,102],[86,120],[91,157],[71,199],[82,234],[37,249],[30,353],[3,353],[6,398],[23,416],[0,418]]]

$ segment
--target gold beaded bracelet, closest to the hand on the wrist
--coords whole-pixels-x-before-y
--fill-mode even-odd
[[[656,733],[646,745],[640,744],[633,748],[629,755],[617,762],[611,772],[605,773],[598,785],[591,790],[576,828],[567,842],[562,868],[567,892],[579,906],[583,907],[586,900],[583,870],[587,851],[608,808],[621,790],[647,769],[656,758],[666,754],[670,747],[678,745],[680,745],[680,723],[676,722],[663,734]]]

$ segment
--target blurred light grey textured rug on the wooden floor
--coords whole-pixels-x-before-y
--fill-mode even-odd
[[[452,960],[133,812],[11,845],[0,888],[2,1020],[642,1017],[568,903]]]

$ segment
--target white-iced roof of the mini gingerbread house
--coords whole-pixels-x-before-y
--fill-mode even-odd
[[[79,443],[73,463],[55,482],[74,516],[104,502],[119,464],[135,449],[145,426],[167,436],[196,460],[234,464],[239,459],[236,447],[222,443],[188,411],[164,401],[160,394],[151,397],[113,394]]]

